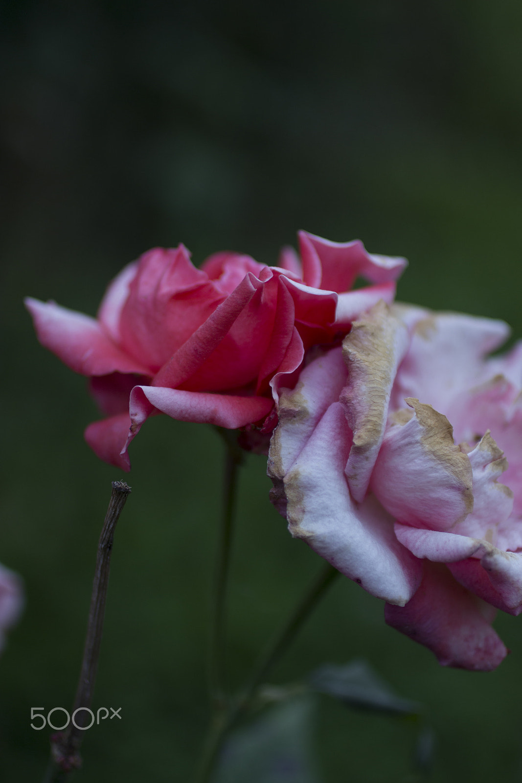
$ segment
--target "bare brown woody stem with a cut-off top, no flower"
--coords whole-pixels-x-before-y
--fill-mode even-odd
[[[81,766],[80,747],[85,731],[85,728],[81,727],[88,724],[90,720],[87,710],[90,709],[92,704],[92,692],[94,691],[96,671],[98,669],[114,530],[125,501],[131,492],[131,488],[125,482],[112,482],[112,486],[113,491],[110,496],[109,507],[107,508],[102,532],[99,536],[84,657],[81,663],[80,678],[73,705],[73,715],[76,710],[80,710],[77,716],[75,716],[75,723],[80,728],[74,726],[71,720],[67,729],[52,736],[51,760],[45,774],[44,783],[64,783],[64,781],[67,781],[70,772]]]

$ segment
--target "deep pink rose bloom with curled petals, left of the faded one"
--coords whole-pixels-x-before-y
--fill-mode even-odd
[[[272,428],[283,376],[315,343],[332,343],[380,298],[392,301],[404,258],[300,232],[301,258],[279,267],[221,252],[200,269],[183,245],[154,248],[110,284],[96,319],[27,298],[38,339],[77,373],[106,418],[85,439],[130,469],[127,447],[152,413],[223,428]],[[373,285],[351,291],[355,279]]]

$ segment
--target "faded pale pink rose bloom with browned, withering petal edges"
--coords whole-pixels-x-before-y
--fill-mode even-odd
[[[279,398],[290,532],[444,666],[494,669],[496,610],[522,611],[522,345],[488,358],[508,334],[381,302]]]

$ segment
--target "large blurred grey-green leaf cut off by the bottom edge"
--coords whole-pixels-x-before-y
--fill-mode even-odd
[[[318,783],[309,696],[269,709],[232,734],[213,783]]]

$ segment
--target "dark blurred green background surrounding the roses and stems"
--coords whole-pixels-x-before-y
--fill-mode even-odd
[[[403,254],[399,298],[506,319],[522,336],[522,5],[451,2],[3,2],[2,524],[0,561],[27,608],[0,661],[0,775],[38,781],[49,733],[31,706],[69,707],[95,547],[124,478],[82,438],[97,417],[45,352],[24,294],[94,314],[108,280],[154,245],[275,263],[297,229]],[[222,445],[167,417],[131,447],[95,707],[77,781],[186,781],[207,723],[205,653]],[[243,472],[229,668],[238,683],[319,558]],[[443,669],[340,580],[274,671],[367,659],[426,705],[434,781],[522,781],[522,619],[491,674]],[[415,731],[326,697],[323,783],[409,781]],[[300,781],[297,781],[300,783]]]

